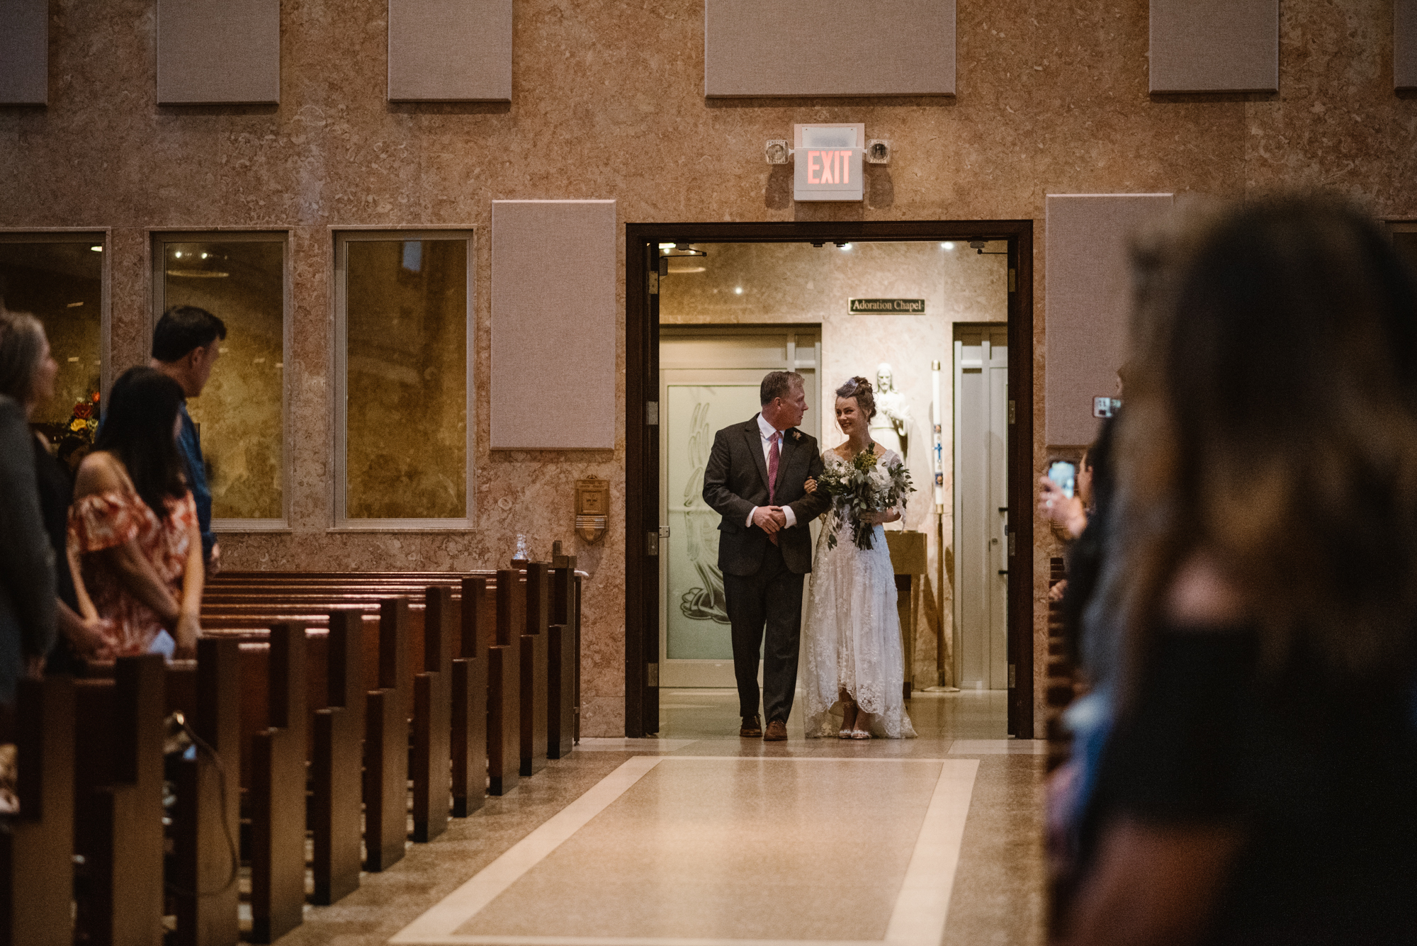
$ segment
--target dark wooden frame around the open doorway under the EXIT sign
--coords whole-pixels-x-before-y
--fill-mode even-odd
[[[676,244],[1009,244],[1009,734],[1033,738],[1033,221],[911,220],[625,225],[625,735],[659,731],[659,269]],[[649,405],[655,406],[650,408]],[[646,501],[652,498],[653,501]]]

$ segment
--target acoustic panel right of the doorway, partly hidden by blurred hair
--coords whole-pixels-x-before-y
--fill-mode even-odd
[[[1117,370],[1127,357],[1129,241],[1170,207],[1170,194],[1047,195],[1049,446],[1081,446],[1097,436],[1093,398],[1117,397]]]

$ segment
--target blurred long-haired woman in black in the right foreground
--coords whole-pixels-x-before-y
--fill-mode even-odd
[[[1411,943],[1417,285],[1335,200],[1135,252],[1068,943]],[[1114,568],[1115,566],[1115,568]]]

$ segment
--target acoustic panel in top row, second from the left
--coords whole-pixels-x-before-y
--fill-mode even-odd
[[[157,0],[159,105],[281,102],[281,0]]]

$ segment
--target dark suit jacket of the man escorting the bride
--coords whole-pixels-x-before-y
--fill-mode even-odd
[[[778,532],[778,548],[782,549],[782,561],[798,575],[812,571],[808,525],[832,504],[825,491],[809,496],[802,489],[809,479],[820,476],[822,452],[816,439],[796,428],[784,431],[771,506],[791,506],[796,517],[795,527]],[[704,503],[723,515],[718,523],[718,568],[727,575],[757,574],[768,548],[768,534],[757,525],[744,525],[754,506],[769,506],[768,462],[762,456],[757,415],[747,423],[734,423],[714,435],[713,452],[704,466]]]

